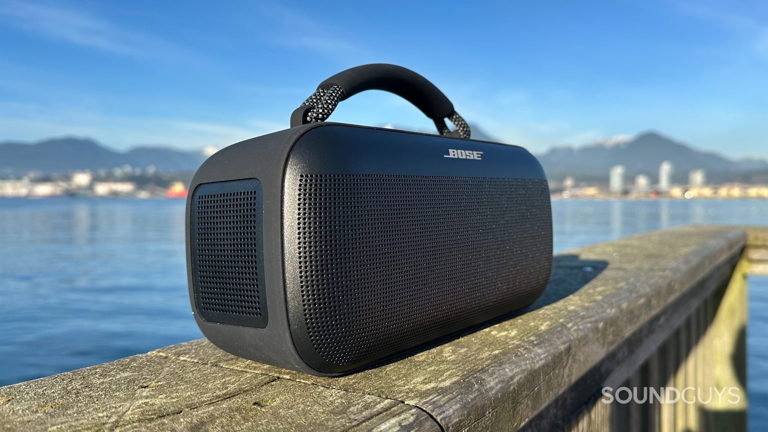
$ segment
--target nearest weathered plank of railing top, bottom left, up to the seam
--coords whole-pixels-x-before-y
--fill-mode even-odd
[[[397,400],[142,354],[0,391],[0,430],[439,430]]]

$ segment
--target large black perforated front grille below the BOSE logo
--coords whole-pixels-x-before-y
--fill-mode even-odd
[[[299,279],[317,354],[360,364],[525,307],[551,269],[546,180],[303,175]]]

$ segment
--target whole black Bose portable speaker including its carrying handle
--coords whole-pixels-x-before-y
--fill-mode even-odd
[[[369,89],[411,101],[442,136],[324,121]],[[190,185],[190,300],[217,347],[334,376],[544,291],[552,222],[541,165],[524,148],[469,139],[421,75],[394,65],[343,71],[291,126],[223,148]]]

